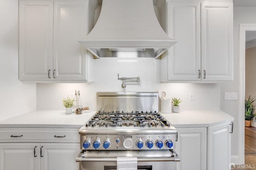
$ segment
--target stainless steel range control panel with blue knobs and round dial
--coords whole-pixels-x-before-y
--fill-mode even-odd
[[[175,134],[81,135],[81,149],[159,150],[174,149]]]

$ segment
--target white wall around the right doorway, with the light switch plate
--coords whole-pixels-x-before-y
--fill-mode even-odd
[[[239,138],[244,136],[238,135],[238,101],[224,100],[225,92],[239,91],[239,24],[256,23],[256,7],[234,7],[234,81],[232,83],[222,83],[220,85],[220,109],[234,117],[234,132],[231,135],[231,155],[232,162],[239,164],[238,150]],[[244,114],[244,113],[242,113]],[[241,128],[244,128],[241,127]]]

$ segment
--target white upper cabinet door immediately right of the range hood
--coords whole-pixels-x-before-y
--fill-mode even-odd
[[[200,80],[200,3],[167,3],[168,80]]]

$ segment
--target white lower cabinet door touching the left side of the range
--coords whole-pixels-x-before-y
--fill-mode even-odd
[[[79,143],[41,143],[41,170],[79,170]]]

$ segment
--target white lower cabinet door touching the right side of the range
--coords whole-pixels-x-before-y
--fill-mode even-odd
[[[206,170],[206,128],[177,128],[177,170]]]

